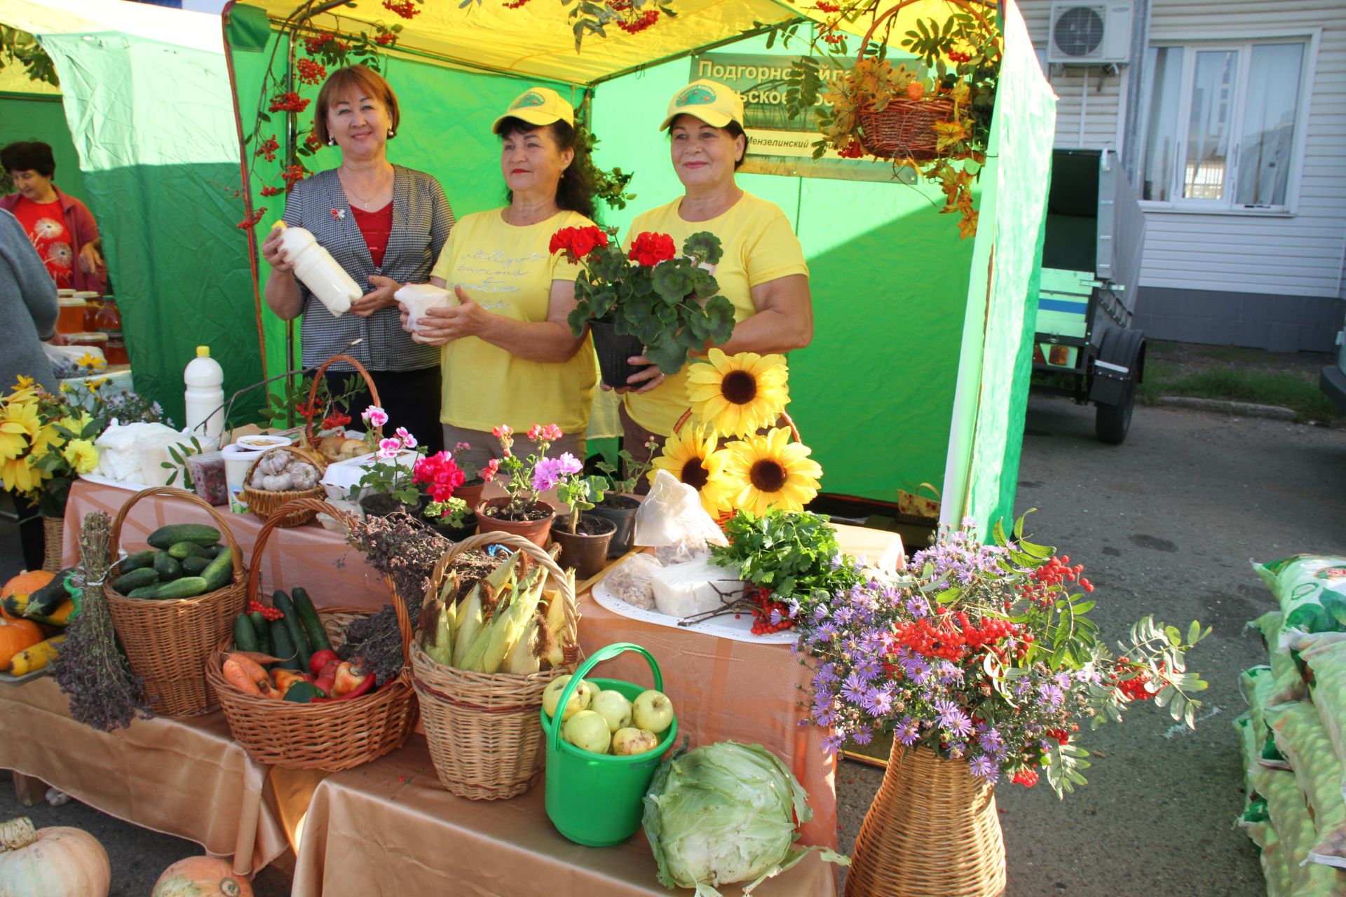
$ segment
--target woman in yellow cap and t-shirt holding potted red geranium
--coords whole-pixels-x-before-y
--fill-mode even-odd
[[[743,164],[743,98],[715,81],[693,81],[669,101],[660,126],[672,140],[673,171],[682,182],[678,199],[651,208],[631,223],[627,241],[651,231],[676,246],[708,230],[720,238],[724,258],[715,266],[720,295],[734,304],[734,335],[720,346],[735,352],[785,352],[813,339],[809,266],[790,221],[774,203],[744,192],[734,182]],[[709,348],[709,347],[707,347]],[[633,364],[645,364],[642,356]],[[623,445],[637,460],[650,438],[662,442],[688,409],[686,364],[665,378],[657,367],[616,386],[622,397]]]

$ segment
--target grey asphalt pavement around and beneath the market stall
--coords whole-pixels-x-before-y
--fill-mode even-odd
[[[1137,407],[1127,442],[1109,446],[1093,438],[1092,409],[1031,399],[1019,508],[1038,508],[1027,527],[1035,541],[1086,566],[1105,635],[1123,635],[1145,613],[1183,628],[1198,619],[1214,633],[1189,656],[1211,683],[1195,732],[1139,707],[1084,740],[1094,753],[1089,785],[1063,802],[1046,783],[1000,785],[1008,897],[1265,893],[1253,847],[1233,828],[1242,810],[1237,676],[1265,662],[1244,624],[1273,607],[1248,561],[1346,553],[1343,506],[1346,429]],[[0,523],[5,576],[19,568],[15,545],[13,526]],[[0,820],[26,814],[38,826],[90,831],[112,855],[113,897],[145,897],[171,862],[202,853],[77,802],[26,810],[8,779],[0,772]],[[880,779],[879,769],[841,764],[843,850]],[[289,882],[268,869],[253,888],[279,897]]]

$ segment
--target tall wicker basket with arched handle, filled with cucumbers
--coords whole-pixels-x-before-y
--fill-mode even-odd
[[[112,523],[113,557],[121,547],[121,527],[131,508],[152,495],[171,496],[209,511],[234,557],[233,582],[192,598],[128,598],[112,588],[112,582],[121,574],[120,562],[104,578],[102,593],[108,598],[112,625],[127,651],[132,671],[145,680],[149,706],[164,717],[194,717],[219,706],[203,670],[215,643],[230,631],[234,617],[246,604],[244,586],[248,572],[238,542],[219,511],[192,492],[168,485],[136,492],[121,506]]]

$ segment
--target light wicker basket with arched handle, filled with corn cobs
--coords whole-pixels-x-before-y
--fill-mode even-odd
[[[472,535],[440,558],[425,600],[440,589],[450,561],[470,549],[503,545],[525,551],[551,574],[565,601],[565,663],[516,675],[466,672],[446,667],[412,646],[412,686],[420,697],[429,756],[440,783],[468,800],[503,800],[524,793],[542,775],[546,738],[538,715],[542,691],[559,675],[572,672],[579,659],[579,609],[575,592],[552,557],[528,539],[505,533]]]

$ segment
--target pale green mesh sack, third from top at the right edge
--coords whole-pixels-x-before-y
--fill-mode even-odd
[[[1318,710],[1307,701],[1296,701],[1267,707],[1265,719],[1314,815],[1318,839],[1308,858],[1346,867],[1346,764],[1333,750]]]

